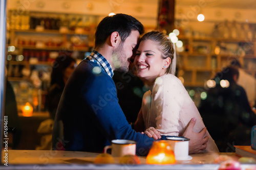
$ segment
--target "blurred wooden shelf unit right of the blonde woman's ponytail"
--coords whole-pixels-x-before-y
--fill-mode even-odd
[[[183,52],[178,53],[178,77],[186,87],[203,87],[222,67],[237,58],[256,77],[256,40],[178,36]]]

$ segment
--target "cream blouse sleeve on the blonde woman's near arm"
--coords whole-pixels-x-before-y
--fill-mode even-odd
[[[172,77],[159,77],[152,90],[153,113],[156,129],[161,135],[179,135],[179,114],[183,105],[184,90]]]

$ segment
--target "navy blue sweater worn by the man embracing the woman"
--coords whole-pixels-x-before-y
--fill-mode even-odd
[[[131,128],[114,81],[103,69],[95,74],[95,66],[83,60],[69,78],[55,116],[53,149],[102,152],[113,139],[130,139],[137,141],[136,153],[146,155],[154,139]]]

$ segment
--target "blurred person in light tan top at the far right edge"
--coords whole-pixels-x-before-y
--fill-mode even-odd
[[[245,72],[238,60],[232,60],[230,65],[238,69],[239,78],[237,84],[244,88],[251,108],[255,107],[256,79],[253,76],[249,75],[247,72]]]

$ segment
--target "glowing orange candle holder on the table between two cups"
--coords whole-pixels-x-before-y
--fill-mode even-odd
[[[147,164],[174,164],[176,163],[174,151],[166,140],[153,142],[152,148],[146,157]]]

